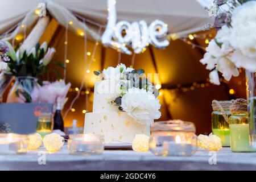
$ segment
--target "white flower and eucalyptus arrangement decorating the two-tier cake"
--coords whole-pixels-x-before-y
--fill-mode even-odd
[[[110,104],[119,107],[120,111],[126,111],[135,121],[151,125],[154,119],[159,119],[158,90],[144,77],[143,69],[127,68],[124,64],[117,67],[109,67],[104,71],[94,71],[94,74],[102,80],[121,80],[118,82],[118,94]],[[128,82],[128,84],[127,84]]]

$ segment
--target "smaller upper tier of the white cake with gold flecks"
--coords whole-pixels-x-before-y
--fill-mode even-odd
[[[120,88],[120,82],[127,80],[102,80],[96,81],[94,86],[93,112],[118,111],[118,106],[110,104],[119,96],[117,93]]]

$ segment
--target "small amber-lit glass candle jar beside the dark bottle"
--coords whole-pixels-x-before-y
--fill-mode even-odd
[[[36,132],[44,136],[51,134],[53,129],[53,121],[51,113],[41,113],[38,117],[38,123],[36,125]]]

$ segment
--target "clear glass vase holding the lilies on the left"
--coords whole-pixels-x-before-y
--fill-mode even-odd
[[[36,101],[36,94],[32,96],[32,92],[39,89],[37,78],[31,76],[17,77],[11,88],[7,102],[30,103]]]

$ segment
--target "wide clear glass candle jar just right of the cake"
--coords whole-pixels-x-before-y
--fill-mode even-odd
[[[195,133],[191,122],[156,122],[151,126],[150,151],[156,156],[191,156],[197,150]]]

